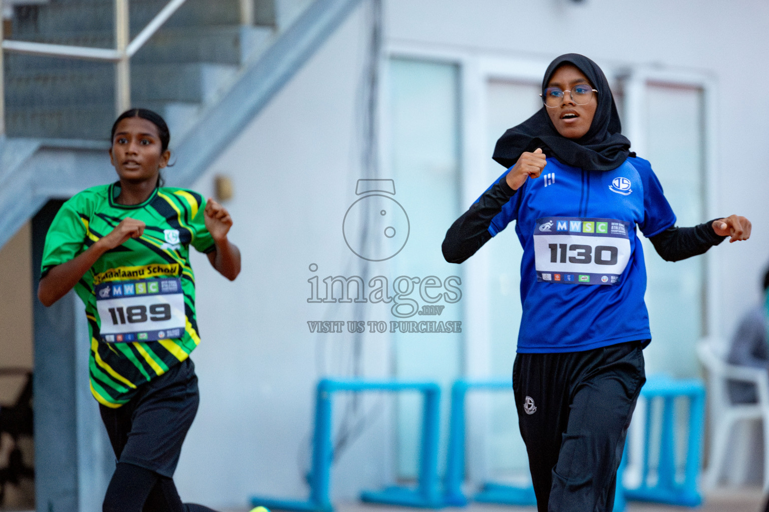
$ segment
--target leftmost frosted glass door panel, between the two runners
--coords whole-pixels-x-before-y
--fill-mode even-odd
[[[441,243],[459,216],[459,69],[455,64],[392,58],[389,61],[389,157],[396,197],[408,214],[410,233],[391,259],[394,293],[401,296],[394,332],[394,375],[428,379],[443,388],[441,456],[445,460],[448,397],[462,375],[461,332],[404,332],[421,322],[461,322],[461,266],[446,263]],[[397,290],[396,290],[397,288]],[[441,296],[441,298],[438,298]],[[414,302],[411,302],[414,301]],[[424,306],[436,306],[434,309]],[[441,306],[444,306],[441,309]],[[414,312],[413,307],[419,308]],[[411,324],[410,322],[416,322]],[[432,322],[435,322],[434,324]],[[453,329],[452,324],[452,329]],[[418,471],[421,398],[398,398],[398,476]]]

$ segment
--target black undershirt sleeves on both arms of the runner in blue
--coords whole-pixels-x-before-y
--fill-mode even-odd
[[[488,226],[514,193],[516,190],[511,189],[505,180],[499,180],[451,224],[441,245],[443,257],[448,263],[462,263],[491,239]],[[662,259],[680,261],[705,253],[723,242],[724,238],[715,233],[713,220],[710,220],[694,227],[672,226],[649,239]]]

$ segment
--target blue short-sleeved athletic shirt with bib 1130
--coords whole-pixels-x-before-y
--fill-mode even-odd
[[[518,352],[578,352],[651,339],[635,226],[651,237],[676,221],[651,165],[631,157],[617,169],[591,171],[547,161],[488,227],[495,236],[516,220],[524,248]]]

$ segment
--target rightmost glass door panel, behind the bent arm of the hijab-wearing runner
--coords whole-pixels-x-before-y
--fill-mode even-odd
[[[701,88],[647,83],[646,150],[678,226],[705,220],[704,94]],[[704,335],[705,257],[666,262],[644,238],[652,343],[647,374],[696,377],[695,345]]]

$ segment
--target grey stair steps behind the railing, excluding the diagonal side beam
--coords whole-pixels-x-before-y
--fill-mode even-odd
[[[266,2],[259,2],[264,5]],[[129,2],[134,38],[165,0]],[[115,48],[113,0],[58,0],[17,7],[12,38],[22,41]],[[131,104],[168,117],[181,135],[202,104],[215,101],[245,64],[268,44],[275,20],[245,26],[239,0],[188,0],[131,58]],[[5,74],[9,137],[105,138],[115,117],[114,64],[8,55]]]

